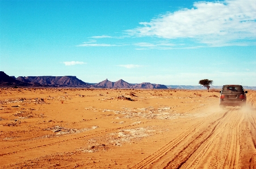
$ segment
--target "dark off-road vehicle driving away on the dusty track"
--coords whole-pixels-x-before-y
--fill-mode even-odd
[[[246,94],[241,85],[224,85],[220,91],[220,107],[245,106]]]

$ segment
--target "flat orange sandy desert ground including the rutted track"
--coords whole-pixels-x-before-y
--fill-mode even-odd
[[[256,168],[256,91],[5,89],[0,168]]]

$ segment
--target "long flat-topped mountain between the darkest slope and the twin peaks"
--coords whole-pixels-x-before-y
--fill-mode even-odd
[[[52,86],[52,87],[79,87],[79,88],[90,88],[91,85],[77,79],[76,76],[27,76],[17,77],[17,80],[30,83],[39,84],[41,86]]]

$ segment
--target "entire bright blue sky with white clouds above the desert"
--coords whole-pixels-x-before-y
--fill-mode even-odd
[[[256,86],[256,0],[0,0],[0,71]]]

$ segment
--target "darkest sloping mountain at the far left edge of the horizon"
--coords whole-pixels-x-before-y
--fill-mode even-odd
[[[0,71],[0,86],[32,86],[32,85],[16,80],[11,76],[6,75],[5,72]]]

